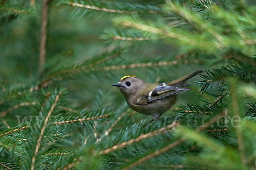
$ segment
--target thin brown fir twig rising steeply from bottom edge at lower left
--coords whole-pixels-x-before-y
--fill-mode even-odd
[[[51,107],[51,109],[49,110],[49,112],[48,112],[48,114],[47,114],[47,116],[46,116],[46,118],[45,118],[44,125],[43,125],[43,127],[42,127],[42,129],[41,129],[41,133],[40,133],[40,135],[39,135],[39,137],[38,137],[38,140],[37,140],[37,143],[36,143],[36,146],[35,146],[35,153],[34,153],[34,156],[32,157],[31,170],[34,170],[35,156],[38,154],[38,150],[39,150],[40,143],[41,143],[41,140],[42,140],[42,137],[43,137],[43,134],[44,134],[44,130],[45,130],[46,125],[47,125],[47,123],[48,123],[49,117],[50,117],[50,115],[52,114],[52,111],[53,111],[54,107],[56,106],[56,104],[57,104],[57,102],[58,102],[58,100],[59,100],[60,95],[61,95],[61,92],[59,92],[59,94],[56,95],[54,104],[52,104],[52,107]]]

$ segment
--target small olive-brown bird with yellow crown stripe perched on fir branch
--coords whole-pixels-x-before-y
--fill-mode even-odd
[[[190,90],[183,88],[190,86],[185,82],[202,72],[204,71],[198,70],[167,84],[150,84],[133,75],[128,75],[120,78],[118,83],[112,86],[119,87],[131,109],[145,115],[152,115],[153,120],[157,120],[176,103],[178,93]]]

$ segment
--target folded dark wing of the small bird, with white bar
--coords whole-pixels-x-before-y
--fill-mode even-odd
[[[164,83],[162,85],[157,86],[153,91],[146,92],[145,95],[142,95],[137,99],[137,105],[145,105],[152,101],[156,101],[162,98],[168,98],[172,95],[176,95],[181,92],[185,92],[190,89],[178,88],[175,86],[166,86]]]

